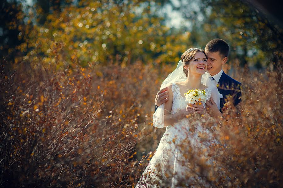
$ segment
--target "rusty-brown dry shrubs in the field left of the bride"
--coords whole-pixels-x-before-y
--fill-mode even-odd
[[[40,62],[14,74],[1,67],[0,184],[134,185],[135,146],[139,127],[150,127],[157,70],[140,62],[53,70]]]

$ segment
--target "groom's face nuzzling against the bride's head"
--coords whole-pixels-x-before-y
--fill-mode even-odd
[[[225,58],[223,59],[219,52],[205,51],[205,53],[208,58],[207,70],[211,76],[214,76],[221,71],[222,65],[224,65],[227,60],[225,60]]]

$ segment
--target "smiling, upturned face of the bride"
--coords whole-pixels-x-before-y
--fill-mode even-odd
[[[186,66],[189,73],[204,74],[207,70],[207,59],[203,52],[197,52],[191,59],[189,65]]]

